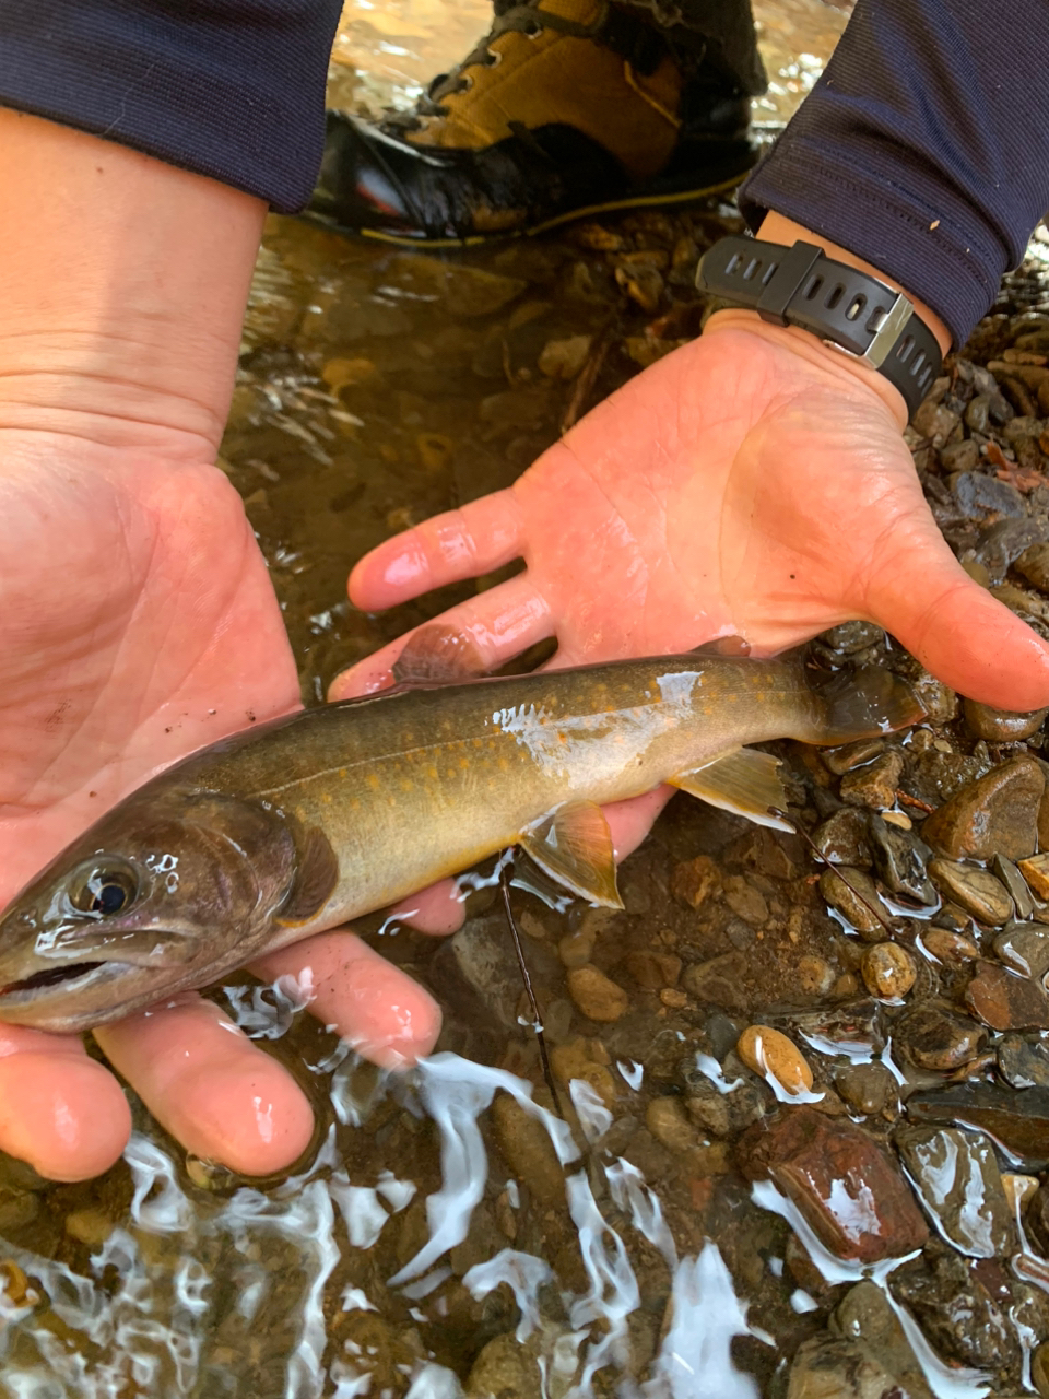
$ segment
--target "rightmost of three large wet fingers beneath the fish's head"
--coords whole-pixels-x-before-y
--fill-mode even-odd
[[[263,957],[252,971],[269,981],[294,977],[311,1014],[383,1067],[408,1067],[441,1034],[434,997],[352,933],[319,933]]]

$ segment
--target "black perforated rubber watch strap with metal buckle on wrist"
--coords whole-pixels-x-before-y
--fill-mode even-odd
[[[909,418],[943,368],[936,336],[901,291],[813,243],[720,238],[701,257],[695,284],[863,360],[899,389]]]

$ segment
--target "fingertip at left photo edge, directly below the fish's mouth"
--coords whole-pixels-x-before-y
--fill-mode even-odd
[[[130,1133],[120,1084],[78,1038],[0,1025],[0,1150],[49,1181],[88,1181]]]

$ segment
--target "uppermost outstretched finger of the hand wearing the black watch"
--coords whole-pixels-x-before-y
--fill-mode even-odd
[[[502,568],[522,551],[523,533],[511,491],[483,495],[462,511],[446,511],[394,534],[350,574],[350,599],[380,611],[432,588]]]

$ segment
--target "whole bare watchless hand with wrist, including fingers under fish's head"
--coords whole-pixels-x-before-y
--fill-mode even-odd
[[[151,772],[299,702],[266,565],[210,464],[263,215],[0,111],[0,907]],[[313,1011],[379,1062],[436,1037],[431,997],[348,933],[255,970],[308,970]],[[269,1174],[306,1147],[305,1095],[218,1006],[179,996],[97,1038],[194,1154]],[[0,1024],[0,1150],[84,1179],[129,1130],[80,1039]]]

